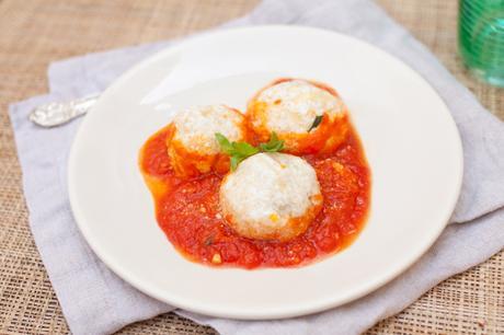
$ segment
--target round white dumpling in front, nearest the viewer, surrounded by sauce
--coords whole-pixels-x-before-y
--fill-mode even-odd
[[[286,153],[259,153],[229,173],[220,207],[234,231],[256,240],[288,241],[303,233],[322,208],[313,168]]]

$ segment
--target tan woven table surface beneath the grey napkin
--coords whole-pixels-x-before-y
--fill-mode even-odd
[[[457,57],[456,0],[377,0],[504,119],[504,90],[468,76]],[[0,333],[68,333],[28,223],[10,103],[47,92],[50,61],[208,28],[250,11],[256,0],[0,0]],[[115,19],[121,18],[121,20]],[[504,253],[429,290],[368,331],[504,333]],[[213,334],[173,313],[123,334]]]

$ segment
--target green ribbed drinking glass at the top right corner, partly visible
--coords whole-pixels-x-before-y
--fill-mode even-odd
[[[469,70],[504,88],[504,0],[460,0],[458,33]]]

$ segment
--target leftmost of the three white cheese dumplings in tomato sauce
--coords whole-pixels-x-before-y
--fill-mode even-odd
[[[225,105],[194,106],[179,112],[167,137],[168,155],[177,176],[210,171],[226,173],[229,157],[220,153],[216,132],[230,141],[247,139],[244,116]]]

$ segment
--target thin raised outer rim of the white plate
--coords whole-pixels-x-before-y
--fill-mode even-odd
[[[149,66],[151,62],[156,62],[160,58],[164,57],[170,57],[172,54],[177,53],[179,50],[190,46],[193,43],[197,43],[199,39],[205,39],[208,36],[214,36],[214,35],[221,35],[221,34],[236,34],[236,33],[242,33],[242,32],[248,32],[248,31],[257,31],[257,30],[291,30],[291,31],[311,31],[314,33],[323,33],[323,34],[332,34],[336,35],[340,38],[350,38],[353,39],[356,43],[365,44],[368,47],[371,47],[377,53],[381,53],[387,55],[387,57],[392,58],[396,62],[401,63],[401,66],[410,72],[410,74],[417,77],[426,86],[428,86],[437,97],[439,97],[440,103],[444,105],[445,111],[447,116],[448,116],[448,124],[453,128],[451,131],[453,135],[455,136],[454,145],[457,147],[456,148],[456,155],[458,157],[458,170],[456,171],[457,173],[457,185],[453,189],[453,195],[451,199],[449,201],[450,206],[447,206],[445,209],[444,213],[444,219],[443,221],[445,223],[438,224],[437,230],[433,231],[432,236],[427,240],[424,240],[424,243],[422,246],[419,246],[417,252],[414,254],[414,256],[411,256],[411,258],[408,262],[403,262],[403,264],[400,264],[397,266],[393,270],[389,270],[386,273],[386,275],[382,275],[378,278],[369,279],[368,284],[366,285],[365,289],[360,289],[358,292],[354,292],[351,294],[347,294],[345,299],[339,299],[334,301],[334,299],[325,298],[325,299],[319,299],[317,301],[311,301],[310,304],[303,303],[303,304],[296,304],[295,307],[283,307],[282,309],[271,309],[266,312],[249,312],[249,313],[242,313],[240,311],[230,311],[227,308],[220,308],[218,302],[216,302],[214,305],[206,305],[204,303],[198,303],[195,304],[194,300],[186,300],[184,298],[179,298],[174,297],[174,299],[167,299],[165,296],[163,296],[158,289],[152,289],[149,288],[147,285],[142,285],[142,282],[139,282],[135,276],[130,276],[126,269],[123,269],[122,266],[117,265],[114,263],[112,259],[113,257],[110,257],[106,252],[101,250],[100,243],[95,243],[93,241],[92,234],[90,231],[87,229],[87,224],[84,222],[83,215],[80,212],[80,208],[77,203],[77,190],[76,190],[76,183],[75,183],[75,169],[73,166],[76,165],[76,157],[77,157],[77,151],[82,141],[82,134],[84,132],[83,129],[85,129],[85,125],[88,124],[87,120],[89,120],[89,115],[82,120],[81,125],[79,125],[78,130],[76,132],[76,136],[73,138],[73,141],[71,143],[70,148],[70,153],[68,158],[68,170],[67,170],[67,180],[68,180],[68,195],[69,195],[69,200],[70,200],[70,208],[75,218],[75,221],[78,226],[79,231],[81,232],[82,236],[84,238],[85,242],[88,245],[91,247],[93,253],[100,258],[101,262],[103,262],[108,269],[111,269],[115,275],[117,275],[119,278],[124,279],[126,282],[131,285],[134,288],[138,289],[139,291],[146,293],[149,297],[152,297],[157,300],[160,300],[162,302],[167,302],[173,307],[183,309],[185,311],[191,311],[191,312],[196,312],[205,315],[213,315],[217,317],[228,317],[228,319],[240,319],[240,320],[273,320],[273,319],[287,319],[287,317],[295,317],[295,316],[301,316],[301,315],[308,315],[308,314],[313,314],[318,313],[321,311],[325,311],[342,304],[345,304],[350,301],[357,300],[377,289],[380,287],[385,286],[386,284],[390,282],[394,278],[397,278],[400,274],[404,273],[406,269],[409,269],[415,262],[417,262],[422,255],[424,255],[428,249],[437,241],[446,226],[448,224],[449,218],[451,217],[455,207],[458,203],[461,187],[462,187],[462,177],[463,177],[463,148],[462,148],[462,142],[460,138],[460,132],[458,130],[458,127],[456,126],[456,123],[454,120],[454,117],[451,116],[451,113],[449,112],[449,108],[444,101],[444,99],[438,94],[438,92],[433,88],[433,85],[421,74],[419,73],[415,69],[410,67],[408,63],[405,63],[402,59],[396,57],[394,55],[386,51],[385,49],[380,48],[379,46],[376,46],[371,43],[368,43],[366,41],[363,41],[360,38],[342,34],[339,32],[330,31],[330,30],[324,30],[324,28],[319,28],[319,27],[312,27],[312,26],[302,26],[302,25],[287,25],[287,24],[271,24],[271,25],[253,25],[253,26],[244,26],[244,27],[229,27],[229,28],[222,28],[222,30],[211,30],[209,32],[203,32],[196,35],[190,35],[187,36],[185,41],[182,41],[180,43],[176,43],[175,45],[168,46],[161,50],[156,51],[151,56],[148,56],[147,58],[140,60],[138,63],[134,65],[131,68],[126,70],[123,74],[121,74],[118,78],[116,78],[112,84],[110,84],[101,94],[99,101],[96,102],[95,106],[89,112],[89,114],[93,114],[95,111],[95,107],[100,105],[101,100],[103,96],[107,95],[111,91],[113,91],[116,86],[119,86],[123,82],[127,81],[128,78],[142,70],[142,68]],[[94,115],[94,114],[93,114]],[[373,174],[373,171],[371,171]],[[371,185],[373,188],[373,185]],[[173,297],[172,297],[173,298]],[[193,303],[191,303],[191,301]]]

